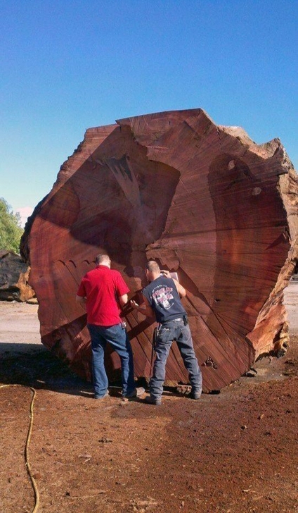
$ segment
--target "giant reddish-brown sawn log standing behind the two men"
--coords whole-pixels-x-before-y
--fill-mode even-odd
[[[91,376],[79,282],[108,252],[137,301],[148,258],[176,271],[203,390],[220,390],[287,338],[283,289],[297,263],[298,183],[278,139],[257,145],[202,109],[86,130],[27,223],[22,254],[39,299],[41,341]],[[136,377],[150,375],[155,323],[124,309]],[[117,354],[107,354],[111,380]],[[188,383],[174,344],[167,383]]]

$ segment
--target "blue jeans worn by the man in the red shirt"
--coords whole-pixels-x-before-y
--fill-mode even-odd
[[[105,372],[105,347],[110,342],[112,348],[119,354],[121,361],[122,395],[131,393],[134,383],[134,359],[127,330],[121,324],[115,326],[96,326],[87,324],[91,335],[92,372],[95,397],[103,397],[108,390],[108,376]]]

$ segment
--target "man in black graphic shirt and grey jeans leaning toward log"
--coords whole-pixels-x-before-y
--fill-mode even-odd
[[[169,271],[160,271],[160,266],[154,260],[148,261],[145,273],[149,285],[143,289],[144,303],[139,306],[135,301],[131,301],[131,306],[145,316],[155,315],[159,323],[153,376],[150,379],[150,397],[146,397],[146,401],[150,404],[162,403],[165,366],[174,340],[189,373],[192,386],[190,397],[200,399],[202,373],[193,349],[186,311],[180,299],[186,296],[186,290],[178,281],[171,278]]]

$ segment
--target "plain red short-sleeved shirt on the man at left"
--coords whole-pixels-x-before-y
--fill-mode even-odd
[[[118,298],[127,292],[129,288],[119,271],[99,265],[85,274],[77,295],[86,297],[89,324],[114,326],[121,322]]]

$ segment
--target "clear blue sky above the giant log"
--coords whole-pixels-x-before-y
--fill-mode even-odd
[[[298,169],[297,0],[2,0],[0,197],[28,212],[86,128],[201,107]]]

